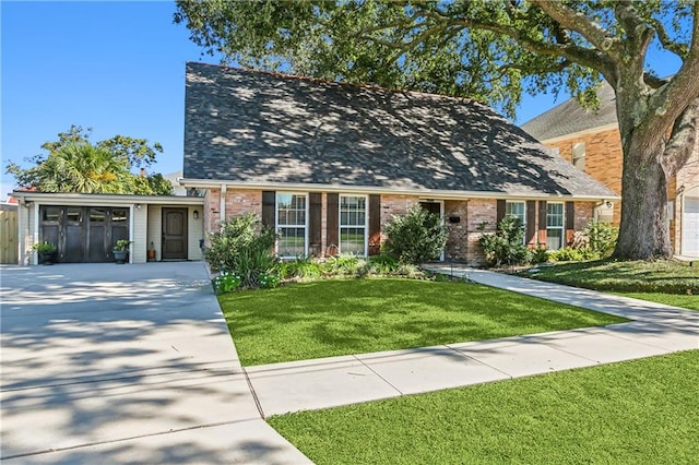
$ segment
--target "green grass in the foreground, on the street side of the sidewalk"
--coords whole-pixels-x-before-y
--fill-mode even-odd
[[[288,414],[317,464],[696,463],[699,350]]]

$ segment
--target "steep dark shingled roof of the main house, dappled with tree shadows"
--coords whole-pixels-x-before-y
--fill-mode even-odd
[[[202,63],[187,64],[183,177],[615,196],[476,102]]]

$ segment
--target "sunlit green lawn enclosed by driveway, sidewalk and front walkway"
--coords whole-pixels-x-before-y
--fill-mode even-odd
[[[246,366],[626,321],[486,286],[418,279],[317,281],[218,299]]]

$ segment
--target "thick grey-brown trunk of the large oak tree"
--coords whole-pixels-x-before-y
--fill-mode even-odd
[[[624,140],[621,224],[613,257],[654,260],[672,257],[667,228],[667,179],[661,166],[662,138],[630,132]]]

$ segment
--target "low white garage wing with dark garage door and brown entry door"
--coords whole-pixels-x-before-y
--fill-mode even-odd
[[[20,201],[20,264],[38,263],[32,245],[58,248],[59,263],[114,261],[118,239],[132,241],[129,261],[201,260],[203,199],[15,191]]]

